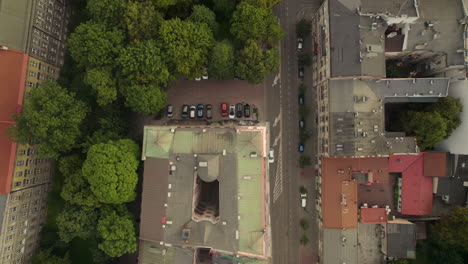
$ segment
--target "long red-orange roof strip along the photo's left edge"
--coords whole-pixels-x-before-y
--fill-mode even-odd
[[[0,194],[11,189],[16,144],[6,135],[14,124],[12,115],[21,110],[28,55],[16,50],[0,50]]]

